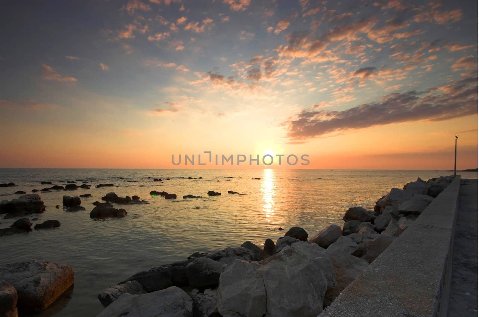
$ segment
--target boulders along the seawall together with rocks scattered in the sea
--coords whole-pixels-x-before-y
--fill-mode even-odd
[[[292,227],[276,243],[266,239],[262,248],[246,241],[240,247],[194,252],[186,260],[138,272],[98,294],[105,307],[98,316],[317,316],[452,179],[418,178],[403,189],[393,188],[373,211],[351,207],[342,228],[331,225],[312,238],[303,228]],[[105,203],[93,203],[90,216],[126,215],[111,202],[146,203],[114,193],[102,200]],[[80,197],[63,197],[66,207],[80,203]],[[29,215],[44,212],[45,206],[31,194],[3,201],[0,212],[5,211]],[[1,230],[26,232],[31,226],[22,218],[0,229],[0,235]],[[57,226],[59,222],[47,220],[35,229]],[[41,311],[53,303],[73,284],[73,269],[62,263],[17,262],[0,268],[0,281],[0,316],[17,316],[17,309]]]

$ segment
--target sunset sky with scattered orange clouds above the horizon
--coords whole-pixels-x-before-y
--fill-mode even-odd
[[[477,12],[476,1],[2,1],[0,167],[250,168],[237,155],[259,155],[252,168],[451,170],[458,135],[457,168],[476,168]],[[233,166],[198,166],[205,151]]]

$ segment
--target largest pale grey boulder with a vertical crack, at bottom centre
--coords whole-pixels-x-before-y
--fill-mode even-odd
[[[223,317],[316,317],[337,286],[331,260],[317,244],[298,242],[260,262],[236,260],[221,273]]]

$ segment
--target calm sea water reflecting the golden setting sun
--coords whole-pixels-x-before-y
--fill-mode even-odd
[[[351,206],[372,209],[392,187],[402,188],[418,176],[427,180],[450,174],[432,170],[0,169],[0,182],[18,185],[0,188],[0,200],[17,198],[13,192],[19,190],[31,193],[54,184],[65,186],[64,180],[92,185],[90,190],[37,192],[46,212],[29,218],[39,218],[33,223],[57,219],[61,226],[1,237],[0,265],[33,259],[67,263],[75,271],[72,293],[37,316],[96,316],[103,309],[97,294],[136,272],[185,260],[194,251],[239,247],[246,240],[276,241],[285,233],[279,227],[301,226],[313,236],[328,225],[342,226],[341,217]],[[477,178],[476,172],[461,175]],[[189,176],[203,179],[177,178]],[[261,180],[251,180],[257,177]],[[153,182],[153,178],[171,180]],[[52,185],[41,185],[41,181]],[[115,187],[94,188],[100,183]],[[153,197],[152,190],[176,193],[179,199]],[[208,197],[210,190],[222,195]],[[228,194],[228,190],[244,195]],[[92,203],[107,192],[138,195],[149,204],[115,206],[126,209],[125,218],[91,219]],[[92,195],[81,198],[86,211],[55,208],[62,205],[63,195],[84,193]],[[204,198],[181,199],[188,194]],[[0,227],[17,219],[0,218]]]

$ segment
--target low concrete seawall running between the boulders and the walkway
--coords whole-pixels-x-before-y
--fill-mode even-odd
[[[319,317],[446,316],[460,176]]]

